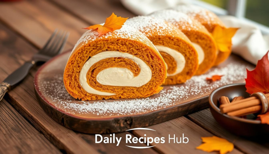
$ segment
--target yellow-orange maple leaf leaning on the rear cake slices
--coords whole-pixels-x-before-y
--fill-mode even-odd
[[[212,32],[212,36],[217,43],[218,50],[221,52],[230,52],[232,46],[232,37],[239,28],[224,28],[216,26]]]

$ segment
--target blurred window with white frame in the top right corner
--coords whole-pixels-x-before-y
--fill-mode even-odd
[[[232,15],[257,25],[269,34],[269,0],[192,0],[217,15]]]

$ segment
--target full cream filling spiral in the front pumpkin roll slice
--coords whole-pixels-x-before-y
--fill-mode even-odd
[[[87,72],[93,64],[98,61],[111,57],[123,57],[128,58],[136,62],[140,67],[140,73],[138,76],[134,77],[132,71],[126,68],[121,67],[109,67],[100,71],[96,80],[102,85],[111,85],[111,86],[128,86],[128,87],[141,87],[144,84],[147,84],[151,80],[152,73],[150,67],[141,60],[140,58],[125,52],[118,51],[104,51],[92,56],[86,63],[83,65],[80,74],[79,82],[82,88],[91,94],[111,96],[115,93],[109,93],[104,91],[99,91],[91,87],[87,83]]]

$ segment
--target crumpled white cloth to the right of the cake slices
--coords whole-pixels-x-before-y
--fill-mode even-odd
[[[232,52],[256,65],[269,50],[269,35],[263,36],[257,26],[233,16],[220,19],[227,27],[240,27],[232,38]]]

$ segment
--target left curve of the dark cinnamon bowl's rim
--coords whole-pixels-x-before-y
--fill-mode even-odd
[[[221,90],[224,87],[232,87],[235,85],[246,85],[246,83],[232,83],[232,84],[227,84],[227,85],[223,85],[221,87],[218,87],[217,89],[213,90],[210,95],[209,95],[209,105],[212,109],[214,109],[216,112],[218,112],[218,114],[221,114],[222,116],[225,116],[229,119],[233,119],[233,120],[237,120],[237,121],[241,121],[241,122],[247,122],[247,123],[251,123],[251,124],[261,124],[260,120],[253,120],[253,119],[243,119],[243,118],[239,118],[239,117],[235,117],[235,116],[229,116],[227,114],[223,114],[220,112],[220,109],[217,107],[217,105],[214,104],[213,102],[213,95]]]

